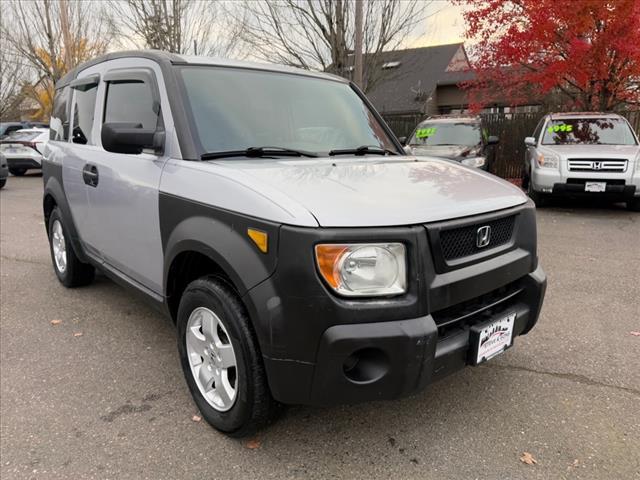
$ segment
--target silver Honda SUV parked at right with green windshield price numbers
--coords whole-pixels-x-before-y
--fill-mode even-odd
[[[538,206],[549,196],[602,196],[640,211],[640,146],[614,113],[546,115],[527,152],[523,186]]]

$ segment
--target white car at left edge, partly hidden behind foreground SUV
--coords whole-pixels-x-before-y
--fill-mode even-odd
[[[0,152],[7,159],[9,171],[22,176],[27,170],[42,169],[42,154],[48,141],[48,128],[24,128],[2,137]]]

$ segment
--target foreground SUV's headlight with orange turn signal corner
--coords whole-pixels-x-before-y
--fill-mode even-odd
[[[347,297],[397,295],[407,289],[407,260],[401,243],[316,245],[322,278]]]

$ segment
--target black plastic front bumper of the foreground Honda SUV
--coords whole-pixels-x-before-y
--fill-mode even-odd
[[[541,268],[522,279],[523,290],[493,309],[516,312],[514,338],[531,330],[546,289]],[[334,405],[388,400],[419,392],[470,363],[470,327],[487,312],[443,333],[431,315],[391,322],[335,325],[322,335],[314,364],[265,358],[273,395],[284,403]]]

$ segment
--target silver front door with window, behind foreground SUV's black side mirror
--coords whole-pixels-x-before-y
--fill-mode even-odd
[[[97,130],[108,122],[133,122],[157,130],[170,124],[162,74],[155,62],[112,60],[103,73]],[[134,155],[98,147],[84,166],[95,178],[95,184],[87,187],[89,241],[106,264],[155,293],[162,292],[158,188],[167,158],[151,151]]]

